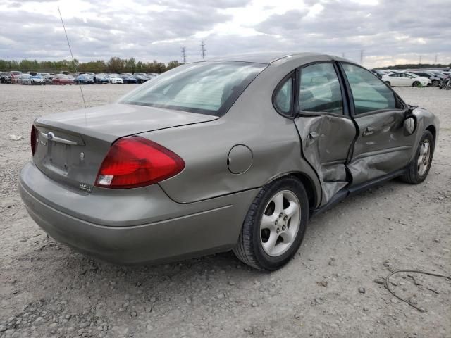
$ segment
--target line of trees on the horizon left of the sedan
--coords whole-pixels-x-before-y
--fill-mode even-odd
[[[158,62],[135,61],[135,58],[118,58],[116,56],[108,61],[97,60],[80,62],[74,61],[37,61],[37,60],[1,60],[0,71],[9,72],[11,70],[19,70],[26,72],[52,72],[59,73],[61,71],[91,72],[91,73],[163,73],[166,70],[181,65],[178,61],[169,61],[168,64]]]

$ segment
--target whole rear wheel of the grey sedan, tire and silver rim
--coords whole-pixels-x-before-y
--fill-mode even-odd
[[[235,256],[259,270],[281,268],[299,249],[308,216],[307,192],[296,177],[266,185],[247,212]]]

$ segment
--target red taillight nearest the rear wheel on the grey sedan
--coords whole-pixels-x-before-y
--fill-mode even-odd
[[[95,185],[136,188],[180,173],[185,162],[172,151],[142,137],[124,137],[111,146],[101,163]]]

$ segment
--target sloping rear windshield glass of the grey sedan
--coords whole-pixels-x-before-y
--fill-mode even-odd
[[[221,116],[266,66],[231,61],[181,65],[143,84],[119,102]]]

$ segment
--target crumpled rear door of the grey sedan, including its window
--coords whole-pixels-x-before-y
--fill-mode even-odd
[[[297,74],[295,124],[304,158],[321,182],[321,206],[349,184],[345,165],[357,132],[337,70],[333,62],[320,62],[305,65]]]

